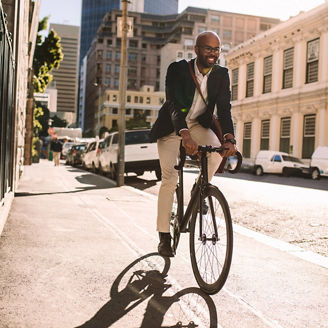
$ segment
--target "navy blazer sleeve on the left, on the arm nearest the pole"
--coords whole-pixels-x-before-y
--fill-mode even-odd
[[[179,92],[182,93],[183,70],[181,69],[183,62],[174,62],[167,69],[165,80],[166,100],[171,103],[170,116],[176,134],[181,129],[187,129],[186,116],[188,109],[184,108],[178,99]]]

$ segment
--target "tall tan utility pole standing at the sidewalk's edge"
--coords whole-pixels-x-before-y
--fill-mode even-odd
[[[120,63],[120,85],[119,85],[119,122],[118,122],[118,174],[117,186],[124,185],[124,148],[125,148],[125,98],[127,86],[127,15],[128,0],[122,0],[122,39],[121,39],[121,63]]]

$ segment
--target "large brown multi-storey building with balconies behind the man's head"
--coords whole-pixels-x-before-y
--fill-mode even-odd
[[[98,109],[96,101],[99,98],[99,88],[94,87],[95,83],[101,87],[101,93],[105,89],[118,89],[119,86],[121,39],[117,37],[116,29],[117,18],[121,15],[120,10],[112,10],[106,14],[88,52],[85,95],[87,130],[94,130],[97,123],[95,114]],[[181,14],[130,12],[129,17],[133,18],[134,33],[128,39],[127,89],[136,91],[143,85],[152,85],[155,91],[164,91],[167,66],[180,58],[181,51],[188,54],[188,57],[193,56],[194,39],[201,31],[212,29],[220,34],[223,27],[228,29],[230,26],[230,34],[225,33],[222,38],[223,44],[228,48],[228,45],[230,47],[239,42],[240,39],[234,37],[238,28],[243,31],[244,39],[241,40],[245,40],[280,22],[277,19],[193,7],[188,7]],[[174,48],[174,51],[170,48],[162,51],[165,47]]]

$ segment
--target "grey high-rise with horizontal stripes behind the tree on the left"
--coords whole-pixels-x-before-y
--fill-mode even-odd
[[[53,85],[57,89],[57,116],[69,124],[76,120],[78,95],[79,26],[50,24],[60,36],[64,59],[53,70]]]

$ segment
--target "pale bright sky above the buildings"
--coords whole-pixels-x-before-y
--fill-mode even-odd
[[[192,6],[287,20],[300,11],[308,11],[325,1],[327,0],[179,0],[179,12]],[[50,15],[50,23],[80,25],[81,4],[82,0],[41,0],[40,19]]]

